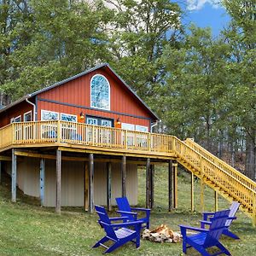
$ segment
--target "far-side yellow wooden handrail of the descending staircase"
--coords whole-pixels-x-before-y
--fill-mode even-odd
[[[210,160],[212,163],[214,163],[216,166],[219,166],[220,168],[224,169],[226,172],[229,172],[231,176],[236,177],[237,179],[241,180],[241,183],[247,183],[247,186],[254,191],[256,191],[256,183],[251,180],[249,177],[245,176],[241,172],[237,172],[237,170],[228,165],[223,160],[220,160],[217,156],[207,151],[207,149],[202,148],[199,144],[195,143],[193,140],[187,138],[185,140],[185,143],[189,145],[189,147],[193,148],[196,152],[203,155],[205,158]]]

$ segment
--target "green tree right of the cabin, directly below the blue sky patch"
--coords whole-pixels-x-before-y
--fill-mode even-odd
[[[167,131],[181,137],[195,137],[207,149],[224,129],[225,97],[228,90],[224,71],[229,48],[211,31],[190,27],[180,49],[167,47],[166,84],[162,86],[162,117]]]

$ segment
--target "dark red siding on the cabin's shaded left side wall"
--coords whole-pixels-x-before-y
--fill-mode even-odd
[[[15,118],[19,115],[21,115],[21,121],[23,121],[23,114],[31,110],[33,114],[33,107],[27,102],[20,102],[14,107],[9,108],[7,111],[4,111],[0,114],[0,127],[9,125],[10,119]]]

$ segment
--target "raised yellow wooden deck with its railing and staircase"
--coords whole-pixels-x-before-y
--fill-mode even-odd
[[[203,187],[207,184],[216,195],[222,195],[228,201],[239,201],[241,210],[247,213],[256,225],[256,183],[191,140],[183,142],[177,137],[164,134],[125,131],[58,120],[13,123],[1,128],[0,160],[9,158],[9,155],[3,152],[11,148],[13,163],[16,155],[34,154],[34,157],[37,157],[36,154],[40,154],[38,150],[29,155],[30,153],[22,152],[22,148],[54,148],[57,152],[88,153],[89,162],[90,158],[93,159],[93,154],[119,155],[123,156],[123,166],[126,156],[137,158],[136,160],[143,158],[147,160],[147,166],[150,159],[177,160],[191,172],[191,180],[193,175],[201,179],[202,207]],[[17,152],[19,149],[15,148],[20,148],[21,151]],[[42,157],[48,156],[42,154]],[[55,158],[53,155],[49,157]],[[68,159],[67,155],[65,157]],[[125,170],[125,167],[122,169]],[[191,201],[194,198],[192,190]]]

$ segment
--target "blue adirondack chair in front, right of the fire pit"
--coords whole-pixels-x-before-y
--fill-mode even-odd
[[[229,218],[229,213],[230,209],[215,212],[212,217],[209,230],[180,225],[181,233],[183,236],[183,253],[187,253],[187,248],[194,247],[203,256],[218,255],[221,253],[231,255],[230,252],[224,247],[224,245],[218,241],[223,230],[225,229],[225,223]],[[195,235],[187,236],[187,230],[194,230],[198,233]],[[189,246],[187,246],[187,244],[189,244]],[[207,252],[207,248],[209,247],[218,247],[219,252],[210,254]]]

